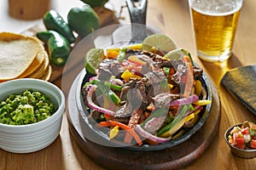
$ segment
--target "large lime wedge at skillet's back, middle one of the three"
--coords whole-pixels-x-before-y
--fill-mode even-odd
[[[167,54],[169,51],[176,48],[176,43],[164,34],[152,34],[143,40],[143,50],[150,52],[155,52],[157,50],[162,54]]]

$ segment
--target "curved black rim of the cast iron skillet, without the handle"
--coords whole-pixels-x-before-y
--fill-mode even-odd
[[[89,78],[92,77],[90,73],[86,73],[85,70],[81,71],[79,73],[79,81],[78,81],[78,86],[76,88],[76,104],[78,107],[79,114],[81,117],[83,117],[85,123],[83,129],[83,133],[85,134],[85,138],[89,139],[90,141],[96,143],[96,144],[101,144],[101,145],[106,145],[109,147],[124,147],[127,150],[146,150],[146,151],[151,151],[151,150],[164,150],[166,148],[171,148],[173,146],[176,146],[177,144],[181,144],[184,141],[188,140],[193,134],[195,134],[202,126],[203,124],[207,121],[207,117],[209,116],[211,112],[211,107],[212,105],[207,105],[204,107],[203,111],[201,111],[200,118],[198,122],[196,122],[195,126],[189,129],[186,133],[183,134],[178,139],[173,139],[167,143],[163,144],[157,144],[157,145],[148,145],[148,144],[143,144],[142,146],[137,146],[137,144],[125,144],[119,140],[109,140],[108,139],[108,133],[104,130],[107,130],[107,128],[104,128],[101,130],[96,127],[96,122],[92,121],[91,118],[88,118],[89,116],[89,111],[86,108],[86,105],[84,104],[84,95],[82,93],[82,88],[84,86],[85,82],[89,82]],[[210,88],[210,84],[208,83],[208,77],[206,75],[203,76],[203,78],[200,79],[202,83],[202,87],[206,89],[207,91],[207,99],[212,100],[212,91]]]

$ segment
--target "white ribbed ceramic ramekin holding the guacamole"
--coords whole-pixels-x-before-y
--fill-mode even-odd
[[[24,78],[0,83],[0,101],[7,99],[9,94],[21,93],[26,89],[33,89],[48,95],[56,111],[44,121],[32,124],[0,123],[0,148],[9,152],[29,153],[42,150],[55,141],[61,130],[65,96],[60,88],[50,82]]]

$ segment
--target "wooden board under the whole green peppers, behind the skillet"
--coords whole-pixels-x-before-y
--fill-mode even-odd
[[[119,24],[119,20],[116,18],[114,12],[108,8],[103,8],[103,7],[97,7],[94,8],[96,11],[96,14],[98,14],[100,18],[100,26],[110,26],[113,24]],[[22,31],[22,34],[25,34],[27,36],[34,36],[36,37],[36,34],[38,31],[45,31],[46,28],[44,27],[43,19],[42,22],[40,22],[37,26],[33,26],[32,28],[27,29],[26,31]],[[79,39],[77,42],[73,44],[73,48],[75,44],[79,42]],[[65,65],[66,68],[64,69],[65,66],[56,66],[53,64],[50,64],[52,67],[52,75],[49,79],[49,82],[54,82],[56,79],[61,77],[65,72],[71,70],[73,67],[76,65],[79,65],[81,63],[80,59],[73,60],[72,62],[69,62],[69,65]]]

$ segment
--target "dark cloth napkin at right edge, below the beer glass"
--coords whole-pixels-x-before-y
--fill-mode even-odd
[[[221,83],[256,116],[256,65],[227,71]]]

